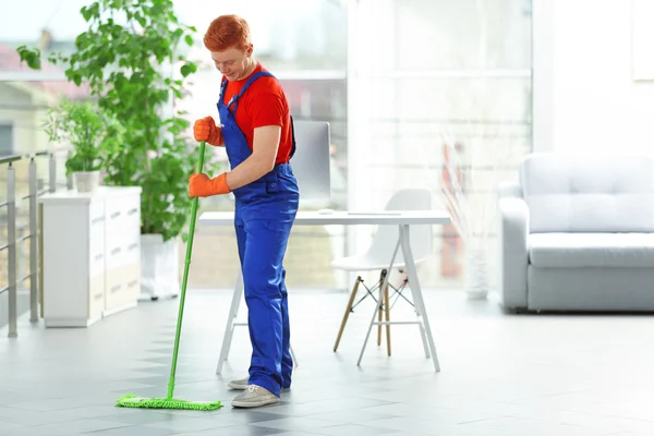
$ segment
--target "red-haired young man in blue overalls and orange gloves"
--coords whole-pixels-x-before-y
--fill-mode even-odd
[[[222,15],[204,37],[222,73],[218,114],[197,120],[196,141],[225,146],[231,171],[209,179],[192,174],[192,197],[233,192],[234,227],[243,272],[252,342],[250,376],[230,383],[244,391],[233,407],[253,408],[279,401],[291,386],[293,362],[282,266],[300,192],[290,158],[295,152],[288,100],[277,80],[253,57],[245,20]]]

